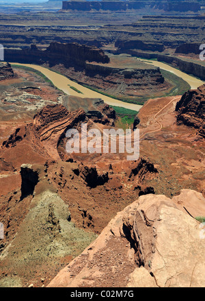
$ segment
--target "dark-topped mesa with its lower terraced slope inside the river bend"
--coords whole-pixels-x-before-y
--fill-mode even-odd
[[[5,49],[5,60],[40,64],[109,95],[138,97],[165,91],[167,83],[157,67],[112,67],[109,57],[97,47],[77,43],[51,43],[46,50]],[[118,66],[118,65],[117,65]]]

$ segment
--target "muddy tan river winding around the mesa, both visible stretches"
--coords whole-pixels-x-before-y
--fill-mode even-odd
[[[197,88],[198,86],[201,86],[204,84],[202,80],[198,80],[196,77],[193,77],[191,75],[188,75],[187,73],[184,73],[174,67],[169,66],[168,64],[165,64],[163,62],[158,61],[146,61],[142,60],[143,62],[147,62],[148,64],[153,64],[156,67],[160,67],[161,69],[164,69],[166,71],[172,72],[178,77],[182,77],[184,81],[186,81],[192,89]],[[44,68],[42,66],[38,66],[35,64],[20,64],[20,63],[11,63],[11,64],[18,64],[20,66],[25,67],[31,67],[33,69],[36,69],[40,71],[42,74],[44,74],[46,77],[53,82],[54,86],[59,88],[61,91],[64,91],[67,95],[73,95],[80,97],[79,93],[77,91],[74,91],[70,86],[73,86],[74,88],[77,88],[81,93],[83,93],[83,97],[89,97],[89,98],[101,98],[105,101],[106,104],[109,104],[110,106],[120,106],[122,108],[128,108],[130,110],[136,110],[139,111],[139,109],[142,107],[138,104],[129,104],[127,102],[124,102],[122,100],[113,99],[111,97],[108,97],[106,95],[102,95],[96,91],[92,91],[89,88],[85,88],[84,86],[81,86],[81,84],[77,84],[77,82],[73,82],[72,80],[69,80],[68,77],[61,75],[59,73],[56,73],[55,71],[51,71],[50,69]]]

